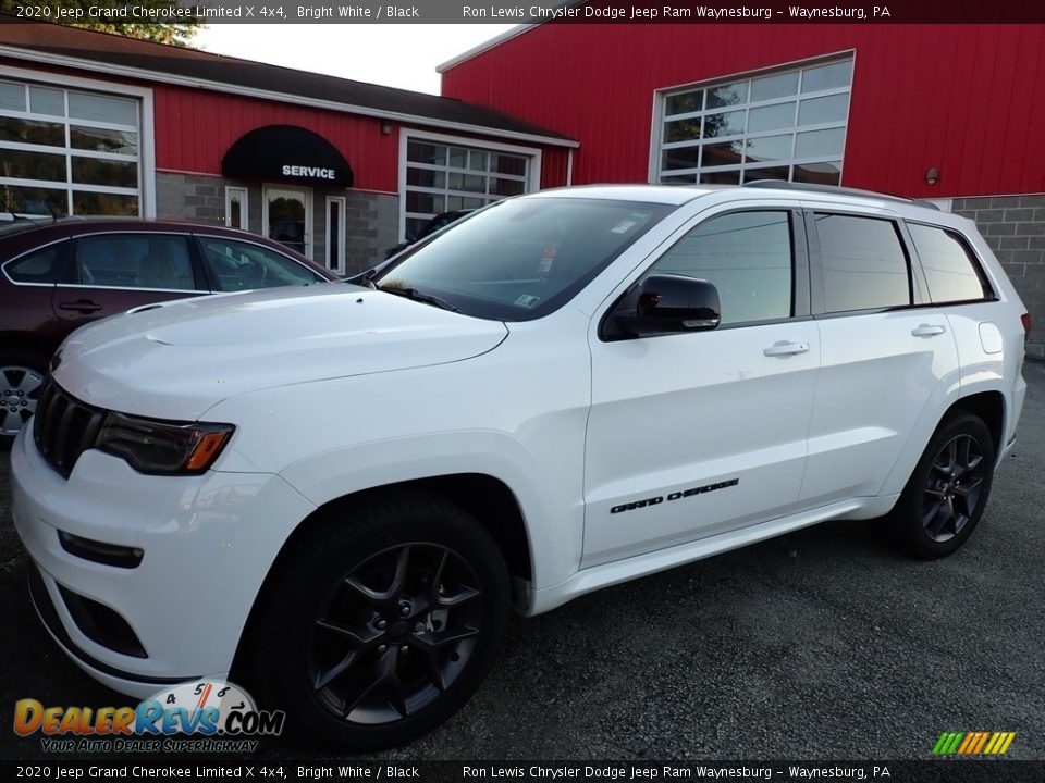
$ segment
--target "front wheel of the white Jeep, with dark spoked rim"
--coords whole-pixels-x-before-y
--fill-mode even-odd
[[[249,682],[308,744],[359,751],[454,714],[493,663],[507,568],[467,512],[429,495],[334,510],[280,560],[248,636]]]

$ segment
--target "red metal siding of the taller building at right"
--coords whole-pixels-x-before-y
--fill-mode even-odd
[[[1045,190],[1045,25],[548,24],[444,73],[443,95],[579,139],[577,184],[646,182],[654,90],[847,50],[844,184]]]

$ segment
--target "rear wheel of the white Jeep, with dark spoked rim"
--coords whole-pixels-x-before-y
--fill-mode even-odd
[[[994,461],[994,439],[979,417],[944,419],[889,513],[895,543],[924,560],[957,551],[983,515]]]

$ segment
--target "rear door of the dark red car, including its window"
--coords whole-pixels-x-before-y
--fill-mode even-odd
[[[78,236],[54,288],[54,314],[67,333],[142,304],[208,294],[193,252],[187,234]]]

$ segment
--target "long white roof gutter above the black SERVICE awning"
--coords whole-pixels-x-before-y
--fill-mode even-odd
[[[520,133],[518,130],[503,130],[501,128],[485,127],[483,125],[432,120],[430,117],[418,116],[416,114],[405,114],[402,112],[384,111],[382,109],[371,109],[369,107],[352,105],[349,103],[339,103],[337,101],[329,101],[320,98],[307,98],[305,96],[295,96],[287,92],[257,89],[255,87],[244,87],[241,85],[226,84],[224,82],[210,82],[208,79],[190,78],[188,76],[176,76],[174,74],[148,71],[146,69],[131,67],[127,65],[116,65],[96,60],[82,60],[79,58],[72,58],[63,54],[45,54],[35,52],[30,49],[21,49],[19,47],[5,45],[0,45],[0,57],[9,57],[15,60],[25,60],[28,62],[42,63],[47,65],[62,65],[81,71],[89,71],[91,73],[104,73],[109,75],[115,73],[119,76],[127,76],[146,82],[159,82],[161,84],[176,85],[179,87],[194,87],[196,89],[207,89],[213,92],[226,92],[229,95],[241,97],[275,100],[280,101],[281,103],[293,103],[296,105],[309,107],[311,109],[324,109],[327,111],[337,112],[341,114],[370,116],[377,120],[391,120],[394,122],[406,123],[408,125],[421,125],[425,127],[443,129],[452,128],[462,133],[496,136],[499,138],[527,141],[529,144],[540,144],[549,147],[566,147],[573,149],[580,147],[580,142],[574,139],[561,139],[551,136],[541,136],[539,134]]]

